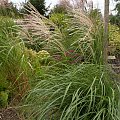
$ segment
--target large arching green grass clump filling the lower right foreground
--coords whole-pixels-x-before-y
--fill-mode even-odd
[[[119,120],[119,88],[104,66],[63,66],[56,73],[50,67],[29,91],[26,119]]]

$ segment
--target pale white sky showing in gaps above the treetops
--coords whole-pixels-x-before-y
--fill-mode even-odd
[[[25,0],[11,0],[14,3],[22,3],[25,2]],[[51,4],[51,7],[54,6],[55,4],[57,4],[58,0],[45,0],[46,1],[46,6]],[[89,1],[89,0],[88,0]],[[104,12],[104,0],[93,0],[94,3],[94,8],[99,8],[101,9],[101,12]],[[110,0],[110,12],[112,12],[112,10],[115,7],[115,2],[114,0]]]

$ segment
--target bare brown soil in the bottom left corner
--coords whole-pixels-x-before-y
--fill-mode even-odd
[[[0,110],[0,120],[21,120],[17,111],[13,108]]]

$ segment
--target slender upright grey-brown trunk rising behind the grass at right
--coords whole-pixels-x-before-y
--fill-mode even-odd
[[[109,0],[105,0],[105,7],[104,7],[104,42],[103,42],[103,59],[104,64],[107,64],[107,53],[108,53],[108,39],[109,39],[109,32],[108,32],[108,25],[109,25]]]

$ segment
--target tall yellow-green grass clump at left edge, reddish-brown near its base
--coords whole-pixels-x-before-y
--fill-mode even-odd
[[[29,88],[31,69],[24,51],[25,45],[13,19],[0,17],[0,92],[5,92],[12,100],[22,98]]]

